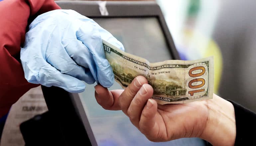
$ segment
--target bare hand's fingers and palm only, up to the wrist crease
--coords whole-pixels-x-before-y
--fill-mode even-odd
[[[147,83],[144,77],[138,76],[124,91],[108,91],[97,85],[95,97],[104,109],[122,109],[131,122],[151,141],[200,137],[207,122],[207,102],[158,105],[155,100],[150,99],[153,88]],[[145,89],[147,93],[141,95]]]

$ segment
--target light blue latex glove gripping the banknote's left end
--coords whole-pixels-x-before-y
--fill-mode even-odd
[[[54,10],[38,16],[26,33],[21,63],[30,83],[84,91],[85,81],[104,87],[114,83],[102,39],[124,50],[109,32],[73,10]]]

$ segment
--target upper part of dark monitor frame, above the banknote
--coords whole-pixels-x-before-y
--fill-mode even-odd
[[[124,18],[124,17],[155,17],[165,36],[170,49],[170,55],[174,60],[180,56],[175,47],[172,35],[168,29],[163,13],[155,1],[107,1],[108,16],[102,16],[99,11],[99,1],[56,1],[62,9],[73,9],[88,18]],[[69,5],[69,6],[67,6]]]

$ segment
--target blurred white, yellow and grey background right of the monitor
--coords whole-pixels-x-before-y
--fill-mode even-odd
[[[156,0],[184,60],[214,56],[214,93],[256,112],[256,1]]]

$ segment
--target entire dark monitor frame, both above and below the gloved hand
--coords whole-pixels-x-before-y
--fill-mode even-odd
[[[161,9],[155,1],[107,1],[106,8],[108,10],[108,16],[101,15],[99,11],[99,2],[100,1],[56,1],[56,3],[62,9],[72,9],[89,18],[156,17],[165,36],[168,48],[170,49],[171,57],[173,59],[180,59],[172,36],[165,22],[164,16],[161,12]],[[65,109],[66,113],[72,114],[72,117],[76,115],[76,120],[80,120],[83,125],[81,125],[79,122],[70,124],[73,126],[73,128],[85,128],[85,138],[86,135],[88,135],[90,145],[97,146],[96,139],[94,137],[93,131],[91,129],[88,117],[83,108],[79,95],[77,93],[68,93],[67,91],[60,89],[58,87],[42,87],[42,90],[49,111],[52,111],[52,113],[56,115],[55,120],[61,123],[60,125],[64,125],[63,122],[64,120],[66,120],[66,116],[68,115],[66,115],[65,113],[60,114],[60,109],[72,106],[73,108],[70,109],[70,111],[72,112],[67,112],[68,109]],[[58,103],[58,101],[63,101],[63,103],[62,105],[56,107],[55,105]],[[68,122],[72,122],[72,120],[69,120]],[[65,138],[69,137],[68,131],[65,132],[65,134]],[[70,137],[73,138],[75,133],[70,133],[70,135],[71,134],[72,136]]]

